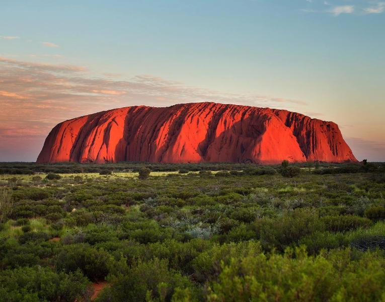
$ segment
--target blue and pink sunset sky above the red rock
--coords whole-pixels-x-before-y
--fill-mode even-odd
[[[63,120],[203,101],[334,121],[358,160],[385,161],[385,2],[0,5],[0,162],[35,161]]]

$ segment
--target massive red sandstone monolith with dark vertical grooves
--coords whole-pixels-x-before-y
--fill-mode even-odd
[[[56,125],[38,163],[356,161],[338,125],[270,108],[216,103],[132,106]]]

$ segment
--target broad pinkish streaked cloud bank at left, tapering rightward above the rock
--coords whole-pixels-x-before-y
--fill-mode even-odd
[[[91,77],[82,66],[0,57],[0,157],[10,153],[4,149],[6,145],[23,145],[30,154],[29,160],[35,160],[37,145],[42,146],[55,124],[112,108],[212,101],[302,111],[306,105],[300,100],[255,93],[221,93],[190,87],[148,74],[124,81],[107,75]]]

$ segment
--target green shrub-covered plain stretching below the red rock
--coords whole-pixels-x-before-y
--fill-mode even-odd
[[[381,163],[3,163],[0,301],[384,300],[384,218]]]

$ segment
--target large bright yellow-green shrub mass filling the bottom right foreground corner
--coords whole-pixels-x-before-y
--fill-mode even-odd
[[[365,253],[354,260],[350,253],[347,249],[313,257],[307,256],[302,247],[294,253],[288,250],[284,255],[237,258],[223,266],[218,281],[210,286],[207,299],[380,300],[385,293],[384,259],[378,254]]]

